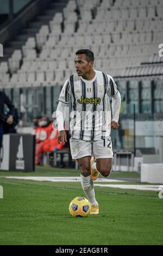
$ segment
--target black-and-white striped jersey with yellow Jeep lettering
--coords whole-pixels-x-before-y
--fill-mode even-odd
[[[61,102],[72,102],[72,137],[84,141],[97,141],[110,135],[109,96],[114,97],[118,92],[110,75],[97,70],[95,72],[92,80],[84,80],[77,74],[70,76],[59,96]]]

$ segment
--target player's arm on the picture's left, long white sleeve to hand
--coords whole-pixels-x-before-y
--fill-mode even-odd
[[[57,124],[58,124],[58,143],[62,142],[65,144],[67,142],[67,135],[64,128],[65,121],[65,108],[70,102],[71,93],[70,93],[70,81],[67,79],[62,87],[61,93],[59,95],[59,103],[57,107]]]

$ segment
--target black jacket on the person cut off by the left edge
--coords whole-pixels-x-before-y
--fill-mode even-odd
[[[2,91],[0,91],[0,122],[6,122],[8,116],[4,113],[4,104],[9,108],[9,115],[15,114],[14,105],[11,103],[9,97]]]

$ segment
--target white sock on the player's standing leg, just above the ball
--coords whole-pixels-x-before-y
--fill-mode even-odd
[[[83,187],[83,191],[89,199],[91,205],[98,205],[95,198],[95,190],[93,187],[93,181],[91,180],[91,175],[84,177],[82,174],[80,174],[80,180]]]

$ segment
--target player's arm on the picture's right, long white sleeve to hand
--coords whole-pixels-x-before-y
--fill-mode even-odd
[[[112,99],[112,119],[111,119],[111,128],[118,129],[120,125],[118,124],[120,108],[121,108],[121,94],[118,92],[117,85],[114,79],[109,76],[109,94]]]

